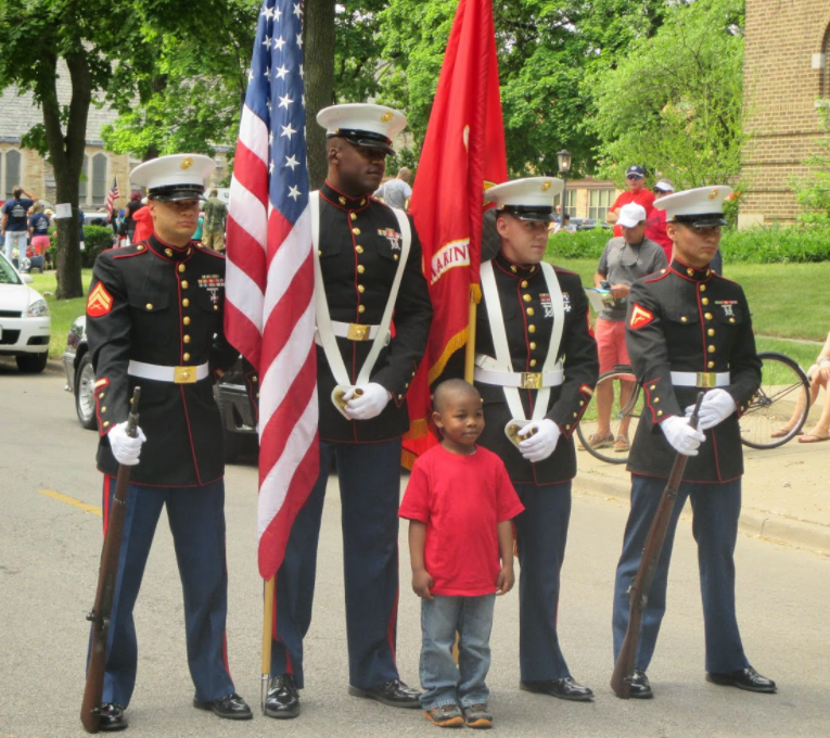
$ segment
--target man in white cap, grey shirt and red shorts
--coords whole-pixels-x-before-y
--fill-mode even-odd
[[[595,287],[609,289],[614,298],[599,314],[595,327],[600,374],[617,365],[630,364],[625,345],[625,311],[630,285],[640,277],[668,265],[660,244],[646,238],[646,208],[642,205],[623,205],[617,225],[623,234],[605,244],[593,275]],[[633,390],[634,382],[620,382],[620,407],[625,407]],[[597,431],[589,436],[588,444],[593,448],[613,446],[615,451],[624,453],[630,448],[628,425],[631,418],[625,416],[614,432],[611,428],[613,404],[614,387],[609,382],[601,382],[597,386]]]

